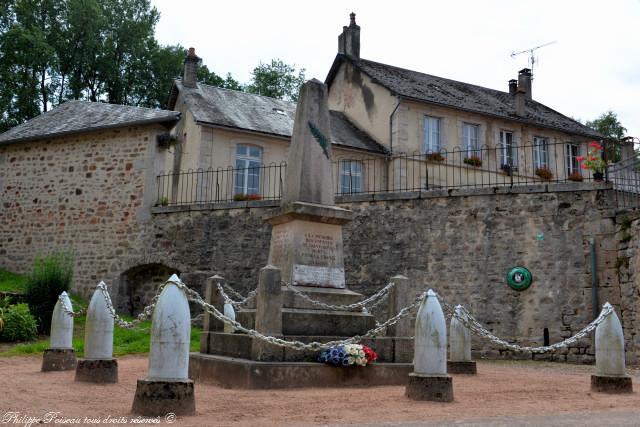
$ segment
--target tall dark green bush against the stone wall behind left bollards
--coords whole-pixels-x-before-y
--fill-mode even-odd
[[[62,291],[68,291],[73,280],[73,258],[66,253],[37,256],[27,276],[25,300],[31,308],[38,331],[49,333],[53,307]]]

